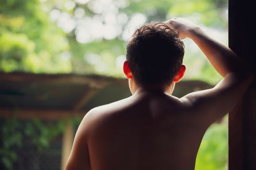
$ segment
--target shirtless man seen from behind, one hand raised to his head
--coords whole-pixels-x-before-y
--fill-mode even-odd
[[[186,37],[224,78],[178,99],[171,94],[185,72],[180,39]],[[194,170],[205,131],[253,80],[233,51],[185,18],[140,27],[127,43],[123,71],[133,95],[86,114],[66,170]]]

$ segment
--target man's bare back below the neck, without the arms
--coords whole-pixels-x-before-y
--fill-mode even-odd
[[[159,92],[142,91],[89,114],[93,170],[193,170],[207,129],[184,102]]]

